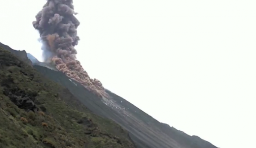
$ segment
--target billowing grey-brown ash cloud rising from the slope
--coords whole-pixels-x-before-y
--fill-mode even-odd
[[[102,83],[91,79],[76,59],[78,44],[73,0],[47,0],[43,9],[35,16],[33,26],[40,33],[45,62],[53,62],[56,68],[70,78],[77,80],[93,93],[106,95]]]

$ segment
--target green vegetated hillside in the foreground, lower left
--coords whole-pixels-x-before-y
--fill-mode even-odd
[[[85,147],[134,148],[127,131],[0,47],[0,148]]]

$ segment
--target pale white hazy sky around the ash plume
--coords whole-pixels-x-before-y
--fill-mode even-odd
[[[0,42],[40,58],[45,0],[0,0]],[[255,0],[75,0],[78,59],[106,89],[221,148],[256,148]]]

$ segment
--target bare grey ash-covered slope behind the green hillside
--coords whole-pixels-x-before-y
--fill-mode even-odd
[[[167,124],[159,123],[150,115],[109,90],[106,90],[106,92],[111,98],[107,99],[103,97],[103,99],[101,99],[84,89],[84,87],[75,80],[68,78],[62,72],[49,69],[42,64],[37,65],[35,63],[33,67],[44,77],[67,88],[69,92],[75,96],[75,98],[72,99],[65,97],[66,99],[64,100],[66,104],[75,109],[79,108],[79,106],[86,106],[91,112],[100,116],[93,116],[93,121],[102,120],[102,122],[98,122],[97,124],[100,129],[105,129],[106,132],[119,136],[119,139],[123,141],[129,140],[130,137],[137,148],[217,148],[197,136],[187,135]],[[73,99],[78,103],[74,104]],[[79,105],[79,102],[83,105]],[[84,113],[83,110],[79,111]],[[90,113],[88,110],[86,111],[87,114]],[[103,118],[101,117],[115,121],[115,123],[121,125],[125,130],[116,128],[109,120],[104,120],[103,122]],[[124,134],[126,130],[129,136]],[[129,141],[126,141],[126,143],[127,145],[130,144]]]

